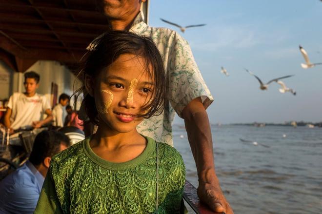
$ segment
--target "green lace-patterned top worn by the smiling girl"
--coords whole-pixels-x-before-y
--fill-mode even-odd
[[[140,156],[112,163],[93,152],[89,139],[52,159],[35,214],[180,212],[185,169],[174,148],[146,137]]]

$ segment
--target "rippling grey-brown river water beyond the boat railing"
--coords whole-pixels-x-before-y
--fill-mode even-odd
[[[322,128],[222,125],[211,129],[217,175],[235,214],[322,214]],[[197,186],[184,126],[174,125],[173,138],[186,177]]]

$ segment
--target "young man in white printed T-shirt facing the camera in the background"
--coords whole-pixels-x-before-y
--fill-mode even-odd
[[[9,98],[4,116],[4,125],[10,128],[10,133],[26,126],[40,128],[53,119],[47,98],[36,93],[39,87],[39,74],[33,71],[27,72],[24,78],[26,92],[16,92]],[[43,114],[47,117],[41,120]]]

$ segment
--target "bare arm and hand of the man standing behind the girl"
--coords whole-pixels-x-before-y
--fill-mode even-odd
[[[213,211],[233,214],[229,203],[222,194],[215,172],[211,129],[201,98],[198,97],[192,100],[183,109],[182,116],[191,151],[196,162],[199,178],[198,196]]]

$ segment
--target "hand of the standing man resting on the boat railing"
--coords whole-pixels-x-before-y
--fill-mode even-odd
[[[219,184],[200,182],[197,189],[200,200],[217,213],[234,214]]]

